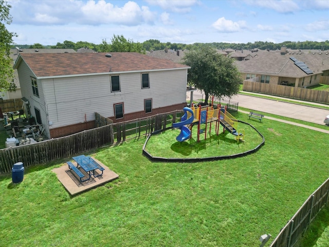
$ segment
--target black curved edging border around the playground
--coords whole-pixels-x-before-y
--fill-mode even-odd
[[[149,160],[153,161],[153,162],[194,163],[194,162],[204,162],[204,161],[220,161],[220,160],[227,160],[229,158],[238,158],[238,157],[243,157],[243,156],[246,156],[248,154],[251,154],[251,153],[254,153],[254,152],[258,151],[265,144],[264,136],[255,127],[250,125],[250,123],[240,121],[240,120],[237,120],[237,121],[245,123],[246,125],[249,125],[255,131],[257,131],[257,133],[262,137],[262,142],[257,147],[255,147],[254,149],[245,151],[243,153],[237,153],[237,154],[232,154],[232,155],[224,155],[224,156],[204,157],[204,158],[165,158],[165,157],[152,156],[148,151],[145,150],[145,147],[146,147],[150,137],[152,135],[156,135],[156,134],[159,134],[159,133],[161,133],[165,130],[170,130],[170,129],[173,128],[173,127],[168,127],[165,130],[154,131],[154,132],[152,132],[151,134],[148,135],[147,139],[145,140],[144,146],[143,146],[143,155],[148,157]]]

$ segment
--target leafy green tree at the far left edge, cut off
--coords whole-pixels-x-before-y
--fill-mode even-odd
[[[13,91],[16,86],[13,83],[14,70],[10,58],[12,38],[16,35],[6,28],[12,21],[9,13],[11,6],[4,0],[0,0],[0,91]]]

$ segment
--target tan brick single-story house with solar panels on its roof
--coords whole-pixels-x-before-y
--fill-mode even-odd
[[[277,51],[258,52],[251,59],[236,61],[243,80],[295,87],[319,84],[321,76],[329,73],[328,52],[308,50],[289,51],[283,47]],[[299,66],[298,66],[298,65]]]

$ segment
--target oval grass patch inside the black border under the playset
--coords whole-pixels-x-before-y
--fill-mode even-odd
[[[176,136],[180,133],[179,129],[170,129],[152,135],[145,150],[157,157],[206,158],[247,152],[256,148],[263,141],[257,131],[243,122],[239,122],[237,130],[244,133],[244,142],[237,142],[236,136],[228,131],[223,133],[222,126],[219,127],[217,135],[215,122],[212,122],[211,127],[208,123],[207,132],[204,131],[200,134],[199,142],[197,142],[197,126],[192,128],[192,138],[182,143],[176,140]],[[200,128],[205,130],[206,125],[201,125]]]

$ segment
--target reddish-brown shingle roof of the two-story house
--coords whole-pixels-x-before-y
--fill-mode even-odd
[[[108,72],[150,71],[173,68],[189,68],[166,59],[152,58],[136,52],[68,53],[68,54],[21,54],[36,77],[98,74]]]

